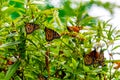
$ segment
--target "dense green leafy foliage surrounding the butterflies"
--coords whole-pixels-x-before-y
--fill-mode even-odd
[[[57,8],[50,0],[41,0],[44,4],[33,1],[0,1],[0,79],[41,80],[42,76],[49,80],[61,80],[62,72],[65,73],[62,80],[120,79],[118,70],[111,72],[111,62],[114,62],[111,59],[105,60],[106,66],[101,68],[84,64],[84,55],[88,54],[94,45],[99,46],[103,42],[105,46],[102,49],[107,50],[120,38],[119,30],[112,28],[109,21],[104,22],[98,17],[90,16],[89,9],[92,5],[97,5],[112,15],[113,9],[119,6],[99,0],[77,3],[72,0],[60,0],[60,7]],[[73,3],[76,8],[71,7]],[[40,29],[27,35],[25,23],[29,22],[39,24]],[[51,42],[45,40],[45,27],[63,34],[68,32],[68,24],[82,26],[86,32],[71,32]],[[73,34],[77,37],[70,36]],[[118,47],[113,47],[111,52]],[[50,73],[45,67],[46,51],[50,51]],[[6,59],[2,57],[14,61],[14,64],[6,65]],[[108,63],[112,65],[108,67]],[[59,71],[58,77],[55,76],[56,71]]]

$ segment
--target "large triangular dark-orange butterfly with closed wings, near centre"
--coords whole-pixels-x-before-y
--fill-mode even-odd
[[[60,38],[60,34],[58,34],[56,31],[49,29],[45,27],[45,36],[46,36],[46,41],[52,41],[53,39]]]

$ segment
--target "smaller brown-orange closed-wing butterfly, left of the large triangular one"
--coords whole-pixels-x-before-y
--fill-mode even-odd
[[[34,30],[39,29],[39,25],[38,24],[34,24],[34,23],[26,23],[25,24],[25,30],[27,34],[31,34]]]

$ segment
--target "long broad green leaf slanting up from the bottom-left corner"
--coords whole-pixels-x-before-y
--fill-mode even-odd
[[[13,74],[15,73],[15,71],[20,66],[20,63],[21,63],[20,61],[17,61],[12,66],[10,66],[10,68],[8,69],[7,74],[5,76],[5,80],[10,80],[10,78],[13,76]]]

